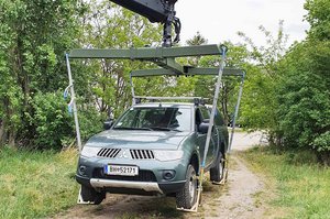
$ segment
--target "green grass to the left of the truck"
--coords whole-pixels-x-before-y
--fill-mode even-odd
[[[0,218],[42,218],[76,205],[76,152],[0,150]]]

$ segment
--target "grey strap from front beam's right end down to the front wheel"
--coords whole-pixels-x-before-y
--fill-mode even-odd
[[[197,201],[196,201],[196,207],[195,207],[196,211],[198,209],[199,200],[201,198],[204,172],[205,172],[205,167],[206,167],[206,158],[207,158],[207,153],[209,151],[211,133],[212,133],[212,128],[213,128],[213,123],[215,123],[215,114],[216,114],[218,98],[219,98],[219,94],[220,94],[221,79],[222,79],[223,69],[224,69],[224,65],[226,65],[226,55],[227,55],[227,51],[228,51],[228,47],[226,45],[221,45],[220,48],[221,48],[222,55],[221,55],[218,79],[217,79],[217,84],[216,84],[216,91],[215,91],[212,111],[211,111],[211,116],[210,116],[209,129],[208,129],[208,133],[207,133],[207,140],[206,140],[206,144],[205,144],[204,157],[202,157],[200,172],[199,172],[199,186],[198,186]]]

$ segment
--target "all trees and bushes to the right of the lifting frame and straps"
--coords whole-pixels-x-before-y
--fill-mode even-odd
[[[307,1],[311,24],[307,41],[285,53],[283,22],[277,37],[261,26],[267,46],[257,47],[240,33],[256,65],[249,72],[242,105],[243,123],[266,129],[271,141],[282,146],[312,149],[323,162],[329,156],[330,50],[326,1]]]

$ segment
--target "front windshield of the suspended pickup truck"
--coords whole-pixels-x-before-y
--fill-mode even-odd
[[[189,108],[131,108],[116,123],[113,129],[152,131],[190,131]]]

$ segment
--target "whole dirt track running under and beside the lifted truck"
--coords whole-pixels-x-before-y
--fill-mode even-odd
[[[244,141],[244,146],[233,142],[233,149],[243,150],[246,144],[255,144],[257,136],[239,133],[235,138],[251,139]],[[111,194],[99,206],[77,205],[55,218],[264,218],[265,190],[263,180],[246,167],[237,152],[233,152],[228,183],[219,186],[207,180],[202,193],[202,206],[197,213],[177,211],[175,199],[170,197]]]

